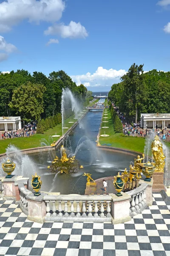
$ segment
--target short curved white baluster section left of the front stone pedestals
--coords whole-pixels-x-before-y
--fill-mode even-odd
[[[26,215],[28,215],[28,201],[26,196],[31,195],[33,193],[30,190],[26,189],[23,183],[18,184],[18,189],[20,193],[20,201],[19,201],[20,208]]]

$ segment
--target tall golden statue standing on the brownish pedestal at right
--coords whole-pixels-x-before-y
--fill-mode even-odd
[[[165,155],[162,150],[162,143],[160,142],[158,135],[156,135],[154,139],[155,140],[153,140],[151,148],[152,148],[153,158],[156,162],[155,171],[156,172],[164,172]]]

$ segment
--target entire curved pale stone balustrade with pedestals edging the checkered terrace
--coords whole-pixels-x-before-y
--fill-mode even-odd
[[[41,192],[35,196],[28,190],[28,178],[14,176],[0,177],[4,200],[15,200],[31,221],[96,221],[112,224],[129,221],[152,205],[153,181],[139,181],[139,187],[122,196],[109,195],[48,195]]]

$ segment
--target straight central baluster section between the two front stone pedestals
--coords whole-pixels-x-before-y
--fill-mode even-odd
[[[45,221],[109,221],[110,195],[45,195]]]

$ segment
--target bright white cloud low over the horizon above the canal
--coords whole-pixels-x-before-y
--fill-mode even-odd
[[[77,85],[84,84],[87,87],[111,86],[114,82],[119,82],[121,76],[126,73],[125,70],[106,70],[98,67],[95,73],[86,73],[85,75],[71,76]]]

